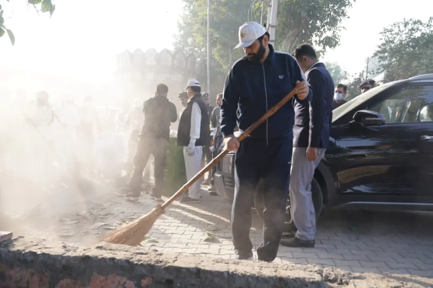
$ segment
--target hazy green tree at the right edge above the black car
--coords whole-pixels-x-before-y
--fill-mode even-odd
[[[403,19],[380,35],[382,43],[374,56],[386,82],[433,73],[433,17],[426,22]]]

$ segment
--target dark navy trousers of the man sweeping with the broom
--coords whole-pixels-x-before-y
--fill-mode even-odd
[[[263,242],[257,248],[259,260],[275,259],[283,232],[289,195],[292,139],[269,141],[245,139],[235,154],[234,200],[231,228],[235,253],[251,253],[249,238],[254,190],[264,182]]]

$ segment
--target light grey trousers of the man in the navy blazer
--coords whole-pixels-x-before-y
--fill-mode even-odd
[[[301,240],[314,240],[316,236],[316,214],[311,197],[311,181],[314,170],[325,156],[326,148],[318,148],[318,159],[309,161],[307,148],[293,147],[292,168],[290,171],[290,213],[295,222],[296,237]]]

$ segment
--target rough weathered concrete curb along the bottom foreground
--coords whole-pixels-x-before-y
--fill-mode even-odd
[[[112,244],[79,248],[15,238],[0,247],[0,288],[423,287],[417,285],[420,281],[405,285],[401,277],[394,281],[313,265],[212,259]]]

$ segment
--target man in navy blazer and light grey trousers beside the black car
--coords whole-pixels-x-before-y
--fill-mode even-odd
[[[301,44],[293,52],[313,89],[310,103],[293,101],[295,125],[293,127],[293,154],[290,174],[290,203],[296,227],[295,237],[282,240],[291,247],[314,247],[316,215],[311,194],[314,171],[329,145],[332,121],[334,82],[322,62],[319,62],[310,44]]]

